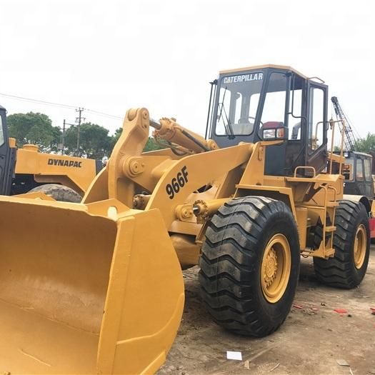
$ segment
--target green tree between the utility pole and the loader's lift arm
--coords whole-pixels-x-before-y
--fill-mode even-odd
[[[65,132],[67,154],[86,156],[90,159],[102,159],[111,153],[109,130],[97,124],[86,122],[79,129],[79,150],[77,152],[77,126],[71,126]]]

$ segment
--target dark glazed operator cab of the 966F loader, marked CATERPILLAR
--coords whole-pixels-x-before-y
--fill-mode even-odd
[[[219,147],[262,141],[269,129],[286,141],[266,147],[265,174],[291,176],[296,166],[324,171],[328,86],[275,65],[221,71],[211,84],[206,135]]]

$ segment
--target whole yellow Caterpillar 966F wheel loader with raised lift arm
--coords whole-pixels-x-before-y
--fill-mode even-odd
[[[206,139],[131,109],[81,204],[0,197],[0,371],[154,373],[196,264],[211,316],[242,335],[284,322],[301,255],[325,284],[359,285],[368,213],[327,151],[328,87],[274,65],[213,85]],[[142,153],[150,126],[168,149]]]

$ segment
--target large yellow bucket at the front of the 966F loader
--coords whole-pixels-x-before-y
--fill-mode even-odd
[[[183,306],[159,210],[0,196],[0,374],[152,374]]]

